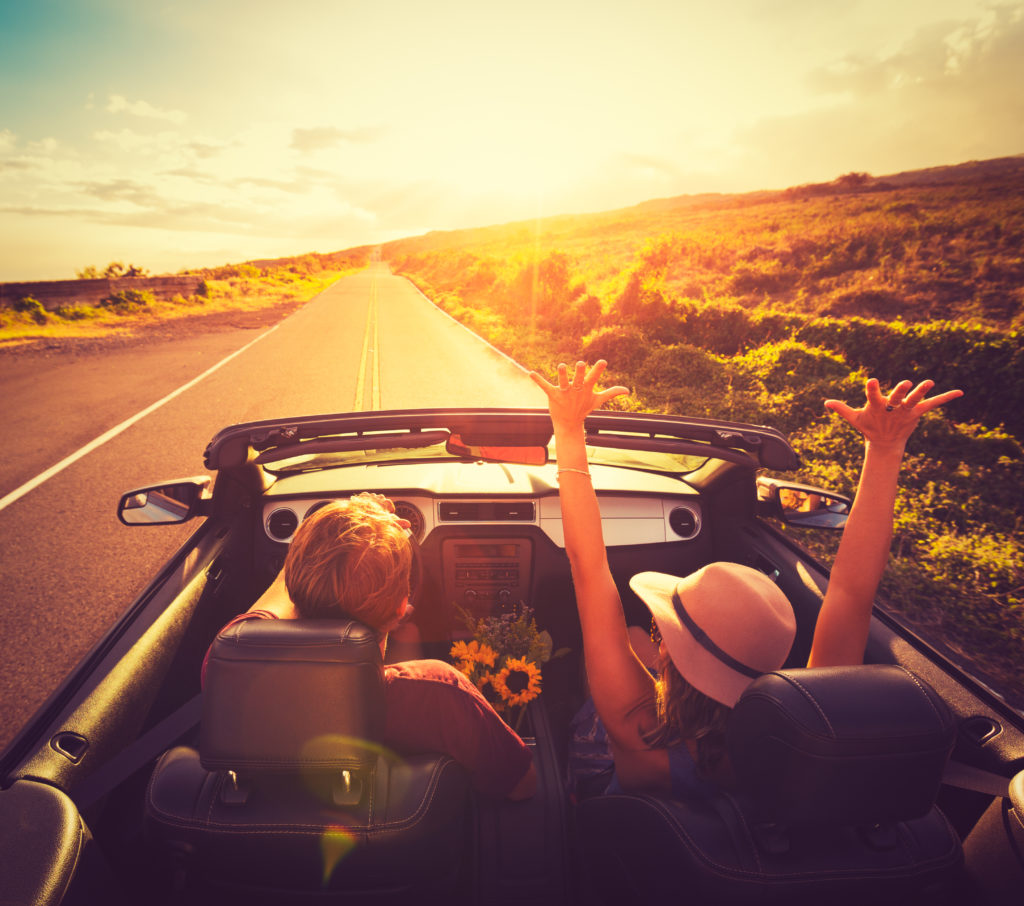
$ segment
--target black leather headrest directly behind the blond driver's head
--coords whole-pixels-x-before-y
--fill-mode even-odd
[[[207,770],[351,770],[384,723],[377,634],[354,620],[248,619],[210,649],[200,756]]]

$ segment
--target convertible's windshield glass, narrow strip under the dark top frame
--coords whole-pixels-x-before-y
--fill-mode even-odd
[[[699,469],[710,457],[687,456],[664,451],[622,449],[610,446],[588,446],[587,459],[602,466],[617,466],[624,469],[643,469],[680,475]],[[332,452],[300,454],[278,460],[266,465],[266,470],[274,474],[306,472],[314,469],[335,469],[344,466],[366,466],[378,463],[416,463],[449,460],[457,462],[459,457],[450,454],[443,443],[430,446],[387,447],[383,449],[359,449]],[[548,446],[549,463],[555,462],[555,445]]]

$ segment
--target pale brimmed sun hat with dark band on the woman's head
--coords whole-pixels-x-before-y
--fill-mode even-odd
[[[683,679],[729,707],[761,674],[782,666],[793,647],[793,605],[750,566],[710,563],[683,578],[640,572],[630,588],[653,615]]]

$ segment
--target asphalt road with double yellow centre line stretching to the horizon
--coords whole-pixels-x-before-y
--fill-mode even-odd
[[[8,363],[0,381],[0,746],[196,527],[127,528],[115,513],[121,494],[202,474],[219,429],[278,416],[546,401],[523,371],[383,264],[269,331]]]

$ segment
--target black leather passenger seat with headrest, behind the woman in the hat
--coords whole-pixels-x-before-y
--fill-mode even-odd
[[[581,803],[583,875],[609,903],[945,902],[963,854],[934,803],[953,738],[900,667],[767,674],[730,718],[737,788]]]

